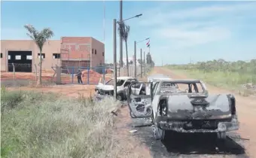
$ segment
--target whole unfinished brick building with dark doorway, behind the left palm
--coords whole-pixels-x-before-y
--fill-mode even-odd
[[[35,71],[39,49],[32,40],[1,40],[1,71]],[[105,61],[105,45],[91,37],[62,37],[49,40],[42,50],[42,71],[52,66],[95,67]]]

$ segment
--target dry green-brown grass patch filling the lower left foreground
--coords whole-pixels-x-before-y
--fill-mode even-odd
[[[112,136],[111,111],[120,105],[113,99],[95,104],[82,96],[1,93],[1,157],[136,157]]]

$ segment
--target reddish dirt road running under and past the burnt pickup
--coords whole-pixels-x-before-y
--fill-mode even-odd
[[[166,68],[156,67],[152,72],[166,74],[174,79],[187,78],[185,75],[178,75]],[[207,85],[207,84],[206,84]],[[230,93],[228,90],[221,90],[207,85],[209,93]],[[140,153],[153,157],[256,157],[256,99],[236,95],[237,112],[240,122],[240,129],[237,132],[228,133],[227,142],[218,144],[215,135],[194,135],[169,133],[172,137],[168,142],[155,141],[150,126],[136,128],[134,126],[145,123],[143,119],[128,118],[128,108],[122,110],[126,117],[123,126],[127,130],[137,129],[133,137],[140,142]],[[130,137],[130,135],[126,135]],[[130,138],[131,139],[131,138]]]

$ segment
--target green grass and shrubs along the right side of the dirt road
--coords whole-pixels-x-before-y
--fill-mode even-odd
[[[256,59],[251,59],[250,62],[227,62],[218,59],[196,64],[167,65],[167,68],[178,70],[216,87],[232,90],[240,89],[242,84],[256,84]]]

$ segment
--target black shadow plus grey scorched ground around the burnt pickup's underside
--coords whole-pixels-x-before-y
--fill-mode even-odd
[[[237,143],[233,141],[233,133],[227,137],[223,142],[217,141],[214,133],[178,133],[167,132],[166,141],[156,141],[151,126],[140,126],[143,120],[133,119],[130,125],[133,129],[137,129],[136,137],[146,144],[153,157],[175,157],[184,155],[185,157],[194,157],[200,155],[236,155],[239,157],[248,157],[245,154],[245,149],[240,145],[242,142]],[[241,140],[238,140],[241,141]],[[190,156],[189,156],[190,155]]]

